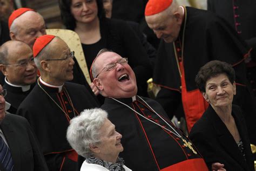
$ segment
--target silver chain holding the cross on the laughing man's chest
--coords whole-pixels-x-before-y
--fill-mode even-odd
[[[137,97],[139,97],[139,96],[137,95]],[[140,98],[140,97],[139,97],[139,98]],[[168,124],[162,117],[160,117],[160,115],[159,115],[156,111],[154,111],[153,108],[151,108],[150,105],[147,104],[147,102],[144,101],[142,98],[140,98],[140,99],[141,99],[154,113],[156,113],[156,114],[158,115],[158,117],[159,117],[161,120],[163,120],[173,131],[171,131],[170,129],[168,129],[168,128],[166,128],[166,127],[160,125],[160,124],[158,124],[157,122],[154,122],[154,121],[152,121],[152,120],[150,120],[150,119],[144,117],[144,115],[140,114],[139,112],[137,112],[136,110],[134,110],[134,109],[131,108],[130,106],[124,104],[122,101],[119,101],[119,100],[114,99],[114,98],[111,98],[111,99],[116,100],[116,101],[119,102],[120,104],[122,104],[122,105],[124,105],[124,106],[130,108],[133,112],[135,112],[135,113],[137,113],[138,115],[140,115],[140,117],[143,117],[144,119],[146,119],[146,120],[152,122],[153,124],[156,124],[156,125],[160,126],[161,128],[165,129],[166,131],[169,131],[169,132],[173,133],[174,135],[178,136],[179,138],[182,138],[181,135],[180,135],[170,124]]]

